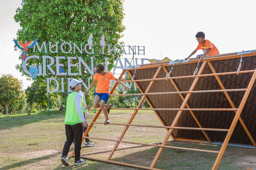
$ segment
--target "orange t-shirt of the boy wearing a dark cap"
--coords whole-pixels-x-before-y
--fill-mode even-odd
[[[115,80],[115,76],[108,72],[105,76],[95,73],[93,78],[97,80],[96,93],[108,93],[110,88],[110,80]]]

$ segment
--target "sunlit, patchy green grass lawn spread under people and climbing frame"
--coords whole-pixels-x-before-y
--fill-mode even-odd
[[[111,110],[111,123],[127,123],[132,115],[131,110]],[[89,111],[87,121],[91,122],[96,113]],[[74,165],[72,145],[68,154],[71,166],[65,167],[60,161],[63,145],[66,141],[64,126],[65,110],[42,111],[31,115],[0,116],[0,169],[135,169],[99,161],[88,160],[87,164]],[[100,114],[96,122],[104,122]],[[132,124],[162,125],[153,111],[139,111]],[[89,132],[90,137],[117,140],[124,126],[94,124]],[[137,131],[143,127],[129,127],[124,141],[153,143],[163,141],[167,131],[164,128],[148,128],[149,131]],[[169,139],[171,140],[171,138]],[[116,144],[106,140],[93,140],[95,147],[82,147],[81,153],[112,149]],[[133,144],[120,143],[119,147]],[[168,145],[220,150],[220,145],[195,144],[191,142],[173,141]],[[150,166],[158,147],[139,147],[116,151],[111,160]],[[218,169],[249,169],[256,167],[255,149],[228,146]],[[90,155],[94,158],[106,159],[109,152]],[[156,163],[159,169],[212,169],[216,153],[188,151],[165,148]]]

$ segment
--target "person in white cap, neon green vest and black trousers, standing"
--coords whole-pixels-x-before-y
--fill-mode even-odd
[[[81,83],[83,81],[78,81],[77,79],[73,79],[70,81],[70,89],[72,92],[68,95],[67,98],[67,106],[66,106],[66,115],[65,115],[65,131],[67,141],[64,144],[62,156],[60,158],[61,162],[65,166],[69,166],[68,159],[68,151],[70,145],[75,140],[75,165],[86,163],[87,160],[83,160],[80,158],[80,150],[82,144],[83,137],[83,128],[88,127],[88,123],[84,119],[84,115],[82,113],[83,103],[81,94],[79,91],[81,90]],[[87,107],[86,109],[89,109]]]

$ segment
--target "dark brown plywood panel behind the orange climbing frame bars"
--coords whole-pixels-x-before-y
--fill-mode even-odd
[[[228,59],[217,59],[210,61],[213,68],[217,73],[222,72],[236,72],[240,58],[228,58]],[[159,63],[160,65],[161,63]],[[202,63],[200,63],[198,70]],[[152,65],[152,67],[137,69],[135,80],[153,78],[158,69],[159,65]],[[191,76],[196,68],[197,62],[195,63],[184,63],[175,64],[171,72],[171,77],[180,76]],[[172,65],[164,65],[164,68],[169,72]],[[256,68],[256,56],[243,57],[241,71],[242,70],[254,70]],[[128,70],[132,75],[134,70]],[[212,70],[208,64],[204,67],[202,74],[212,74]],[[166,72],[161,69],[157,78],[165,78]],[[243,74],[228,74],[219,75],[219,78],[225,87],[225,89],[241,89],[247,88],[249,81],[252,77],[252,73]],[[173,79],[175,85],[180,91],[188,91],[194,81],[194,78],[178,78]],[[148,88],[150,81],[137,82],[142,92]],[[241,113],[241,118],[244,124],[247,126],[254,140],[256,140],[256,82],[252,87],[252,90],[248,96],[248,100]],[[201,90],[221,90],[221,86],[215,76],[200,77],[195,85],[194,91]],[[170,80],[156,80],[149,92],[176,92],[174,85]],[[240,92],[228,92],[231,100],[233,101],[236,108],[239,107],[241,100],[244,96],[244,91]],[[182,94],[183,97],[186,94]],[[149,102],[154,108],[180,108],[183,100],[179,94],[158,94],[158,95],[147,95]],[[232,108],[228,101],[228,98],[224,92],[201,92],[192,93],[188,99],[188,106],[190,108]],[[187,107],[185,107],[187,108]],[[157,110],[156,113],[166,126],[171,126],[178,111]],[[203,128],[219,128],[229,129],[233,118],[235,116],[234,111],[192,111],[198,122]],[[189,111],[183,111],[176,126],[179,127],[197,127],[195,119]],[[206,131],[212,142],[222,143],[227,135],[227,132],[223,131]],[[201,130],[187,130],[187,129],[174,129],[172,135],[176,138],[181,139],[193,139],[205,141],[205,136]],[[229,140],[229,144],[238,144],[244,146],[252,146],[252,142],[246,134],[243,126],[238,121],[234,132]]]

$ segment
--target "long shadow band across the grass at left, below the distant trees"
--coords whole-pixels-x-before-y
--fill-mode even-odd
[[[50,110],[50,116],[48,110],[30,114],[30,115],[9,115],[0,117],[0,130],[10,129],[14,127],[24,126],[33,122],[41,122],[49,119],[56,119],[65,117],[66,110]]]

